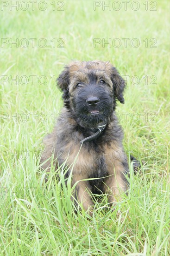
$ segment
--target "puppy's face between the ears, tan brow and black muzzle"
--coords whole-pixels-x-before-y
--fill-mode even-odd
[[[97,127],[99,123],[108,122],[113,113],[113,85],[107,74],[98,70],[88,74],[77,72],[69,90],[70,107],[82,127]]]

